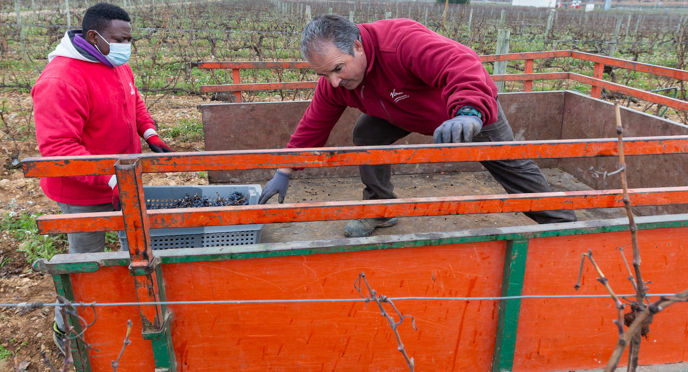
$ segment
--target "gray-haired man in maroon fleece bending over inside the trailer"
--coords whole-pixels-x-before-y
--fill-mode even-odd
[[[411,132],[436,143],[513,141],[497,86],[469,47],[411,19],[356,25],[337,15],[308,23],[301,52],[321,76],[288,148],[321,147],[346,107],[363,115],[354,126],[357,146],[389,145]],[[532,160],[481,162],[508,193],[551,189]],[[259,198],[284,201],[292,168],[277,170]],[[363,199],[393,199],[391,166],[361,166]],[[572,210],[525,213],[537,223],[576,221]],[[397,218],[356,219],[345,237],[367,237]]]

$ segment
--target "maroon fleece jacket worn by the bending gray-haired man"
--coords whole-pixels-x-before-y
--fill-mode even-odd
[[[432,135],[471,105],[483,124],[497,121],[497,85],[471,48],[411,19],[358,25],[367,59],[363,83],[332,87],[321,77],[288,148],[321,147],[346,107]]]

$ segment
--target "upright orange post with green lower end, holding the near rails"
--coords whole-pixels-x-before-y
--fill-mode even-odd
[[[160,259],[151,249],[150,222],[143,194],[142,166],[136,159],[118,160],[115,174],[122,200],[122,217],[129,242],[129,273],[133,276],[138,302],[160,302],[165,299]],[[142,336],[151,340],[155,370],[177,371],[166,305],[139,305]]]

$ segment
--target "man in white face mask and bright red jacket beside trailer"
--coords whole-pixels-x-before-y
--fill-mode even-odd
[[[39,151],[43,156],[141,153],[140,138],[152,151],[171,152],[134,86],[129,14],[109,3],[86,10],[82,30],[69,30],[36,81],[31,95]],[[114,175],[47,177],[47,197],[63,213],[119,209]],[[69,253],[103,252],[105,232],[67,234]],[[54,340],[64,353],[65,329],[56,309]]]

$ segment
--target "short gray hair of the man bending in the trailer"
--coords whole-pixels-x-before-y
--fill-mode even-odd
[[[301,54],[308,61],[314,53],[321,54],[329,43],[342,53],[354,56],[354,43],[361,41],[356,23],[336,14],[325,14],[310,21],[301,33]]]

